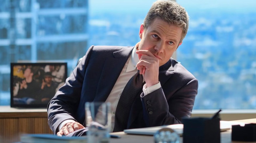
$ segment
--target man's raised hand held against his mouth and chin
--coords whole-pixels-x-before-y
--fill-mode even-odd
[[[159,82],[159,59],[148,50],[138,50],[139,56],[137,69],[143,74],[147,87],[151,87]]]

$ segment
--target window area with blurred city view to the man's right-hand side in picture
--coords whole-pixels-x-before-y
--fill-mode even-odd
[[[177,2],[190,15],[177,58],[199,80],[194,109],[255,109],[256,2]]]

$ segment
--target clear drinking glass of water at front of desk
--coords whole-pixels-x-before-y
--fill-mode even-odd
[[[108,143],[111,130],[111,103],[86,102],[85,120],[88,143]]]

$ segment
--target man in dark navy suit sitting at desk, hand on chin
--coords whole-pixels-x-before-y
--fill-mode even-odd
[[[54,134],[69,135],[84,128],[85,102],[112,103],[114,132],[122,131],[115,130],[122,121],[115,112],[126,106],[131,109],[123,129],[177,124],[190,117],[198,81],[171,58],[187,29],[184,8],[172,1],[156,1],[134,47],[91,46],[48,105],[48,124]],[[131,104],[118,106],[137,70],[145,84]]]

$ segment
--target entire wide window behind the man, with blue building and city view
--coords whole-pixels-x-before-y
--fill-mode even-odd
[[[155,0],[0,1],[0,105],[9,105],[10,62],[66,61],[69,75],[90,45],[134,46]],[[199,80],[194,109],[255,109],[256,1],[177,2],[190,16],[177,60]]]

